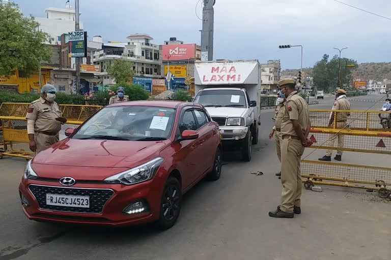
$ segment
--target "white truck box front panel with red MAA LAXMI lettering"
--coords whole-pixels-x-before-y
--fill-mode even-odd
[[[257,64],[240,61],[195,63],[195,84],[258,84]]]

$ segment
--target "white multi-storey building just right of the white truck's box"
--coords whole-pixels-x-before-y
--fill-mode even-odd
[[[261,64],[262,91],[264,93],[277,93],[277,83],[281,79],[281,62],[277,60],[268,60]]]

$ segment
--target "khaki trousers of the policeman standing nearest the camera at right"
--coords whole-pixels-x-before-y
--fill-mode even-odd
[[[293,212],[293,206],[300,207],[301,173],[300,160],[304,146],[300,140],[291,138],[281,140],[281,210]]]

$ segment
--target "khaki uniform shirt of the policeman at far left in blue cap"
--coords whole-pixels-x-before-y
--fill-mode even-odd
[[[57,117],[62,117],[59,105],[56,102],[47,102],[42,97],[30,104],[26,115],[26,119],[35,122],[34,133],[46,132],[53,135],[61,130],[61,122],[55,120]]]

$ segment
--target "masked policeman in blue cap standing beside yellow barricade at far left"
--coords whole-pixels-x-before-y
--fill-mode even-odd
[[[46,84],[41,89],[41,98],[33,101],[27,111],[27,134],[30,150],[39,153],[59,141],[61,124],[67,119],[62,116],[59,105],[54,101],[57,89]]]

